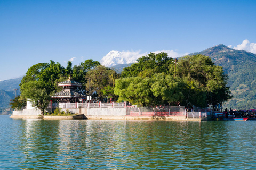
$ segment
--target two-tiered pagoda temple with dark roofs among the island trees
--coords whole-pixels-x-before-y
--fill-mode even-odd
[[[52,98],[57,99],[59,103],[77,103],[81,101],[82,98],[86,99],[87,95],[77,90],[82,84],[72,80],[71,76],[69,76],[67,81],[58,83],[58,86],[63,87],[63,89],[55,93]]]

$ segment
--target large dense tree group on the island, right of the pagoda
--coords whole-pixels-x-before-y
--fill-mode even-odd
[[[181,104],[205,107],[211,100],[212,104],[218,104],[232,97],[227,87],[227,75],[210,57],[179,58],[177,77],[174,77],[172,61],[167,53],[150,53],[126,67],[114,88],[119,101],[140,106]]]

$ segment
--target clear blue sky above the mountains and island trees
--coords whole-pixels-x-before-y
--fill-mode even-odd
[[[255,8],[256,1],[234,0],[0,1],[0,80],[50,60],[65,67],[71,58],[73,65],[100,61],[111,50],[248,49],[256,42]]]

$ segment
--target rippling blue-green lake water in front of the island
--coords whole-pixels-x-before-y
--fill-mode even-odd
[[[0,169],[255,169],[256,121],[0,116]]]

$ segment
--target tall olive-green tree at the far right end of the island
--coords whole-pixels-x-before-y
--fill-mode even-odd
[[[221,66],[214,65],[210,57],[200,54],[185,56],[178,63],[180,64],[177,67],[178,77],[187,79],[188,82],[197,82],[197,87],[207,95],[205,100],[208,104],[211,103],[210,94],[213,104],[223,103],[233,97],[227,87],[227,75]],[[204,95],[202,94],[202,97]],[[194,104],[196,105],[195,101]]]

